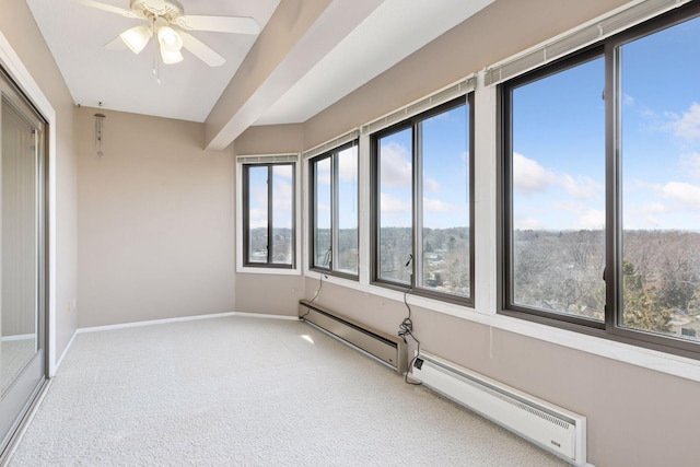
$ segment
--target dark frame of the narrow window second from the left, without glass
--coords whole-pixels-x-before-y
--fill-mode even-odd
[[[360,280],[360,258],[358,257],[358,272],[349,273],[342,270],[336,269],[336,262],[334,259],[337,258],[338,252],[334,248],[334,245],[338,243],[339,229],[338,229],[338,219],[339,219],[339,201],[338,201],[338,178],[339,178],[339,166],[338,166],[338,157],[339,153],[346,151],[350,148],[355,148],[355,156],[357,156],[357,179],[358,179],[358,192],[357,195],[357,205],[360,205],[360,189],[359,189],[359,180],[360,180],[360,154],[359,154],[359,140],[353,139],[342,145],[334,148],[323,154],[314,156],[308,160],[308,269],[317,272],[323,272],[325,275],[336,276],[345,279],[350,279],[358,281]],[[316,264],[316,164],[326,159],[330,160],[330,248],[328,252],[328,267],[323,267],[322,265]],[[360,210],[358,209],[358,255],[360,250]]]

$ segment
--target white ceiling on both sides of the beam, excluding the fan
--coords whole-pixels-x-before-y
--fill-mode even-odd
[[[205,121],[231,82],[257,36],[191,32],[222,55],[226,62],[210,68],[191,54],[177,65],[160,65],[153,75],[153,52],[107,50],[103,46],[138,20],[88,8],[71,0],[26,0],[66,84],[77,104]],[[129,0],[100,0],[129,8]],[[289,0],[281,0],[282,2]],[[316,1],[316,0],[303,0]],[[494,0],[334,0],[334,7],[362,7],[363,20],[290,85],[255,125],[302,122],[390,68],[430,40]],[[185,14],[253,16],[265,27],[280,0],[179,0]],[[361,5],[360,5],[361,4]],[[340,7],[339,7],[340,5]],[[332,31],[332,14],[323,14],[317,31]],[[299,54],[299,49],[295,50]]]

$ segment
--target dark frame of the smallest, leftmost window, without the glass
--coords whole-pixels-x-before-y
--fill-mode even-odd
[[[270,238],[273,237],[275,224],[272,222],[273,214],[273,188],[275,184],[270,183],[273,179],[273,167],[289,165],[292,168],[292,261],[291,264],[273,262],[270,260]],[[266,261],[250,261],[250,238],[249,238],[249,225],[250,225],[250,168],[252,167],[267,167],[267,258]],[[270,162],[270,163],[255,163],[242,165],[242,196],[243,196],[243,266],[246,268],[269,268],[269,269],[295,269],[296,267],[296,163],[295,162]]]

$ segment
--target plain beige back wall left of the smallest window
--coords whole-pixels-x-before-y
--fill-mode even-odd
[[[232,153],[202,124],[86,107],[77,136],[79,326],[233,312]]]

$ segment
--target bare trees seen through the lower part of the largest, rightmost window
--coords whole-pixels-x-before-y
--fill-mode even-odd
[[[515,302],[604,318],[603,231],[516,231]],[[625,231],[625,326],[670,331],[673,314],[700,314],[700,234]]]

